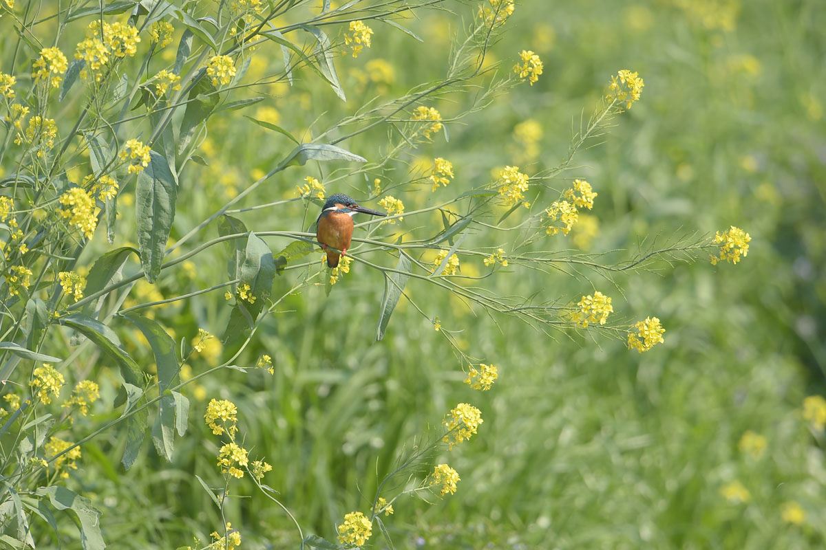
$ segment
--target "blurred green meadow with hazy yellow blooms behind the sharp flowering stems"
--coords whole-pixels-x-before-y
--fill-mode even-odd
[[[476,3],[450,2],[455,14],[409,21],[424,44],[374,26],[371,49],[337,62],[346,104],[305,71],[292,89],[273,86],[248,114],[299,135],[321,111],[335,120],[377,94],[439,78],[451,37]],[[382,278],[354,265],[329,298],[323,287],[292,296],[259,331],[244,358],[272,355],[274,376],[226,370],[191,389],[191,431],[173,463],[147,441],[135,468],[122,472],[119,433],[84,446],[85,466],[70,483],[103,510],[111,548],[176,548],[220,526],[192,477],[220,480],[218,438],[199,420],[211,397],[238,404],[245,446],[273,464],[265,482],[306,532],[326,538],[335,537],[344,513],[368,510],[377,479],[416,438],[434,434],[446,411],[468,401],[482,410],[479,434],[438,457],[460,473],[458,492],[433,505],[396,501],[387,518],[396,548],[823,548],[824,439],[800,411],[805,396],[823,392],[826,364],[826,3],[523,0],[507,27],[493,60],[507,72],[519,50],[533,49],[544,61],[539,82],[450,125],[449,143],[438,136],[409,162],[449,158],[457,173],[452,193],[490,181],[505,164],[529,173],[555,167],[610,75],[629,68],[645,80],[641,101],[566,174],[599,193],[591,217],[544,245],[615,251],[609,259],[616,261],[652,242],[733,224],[752,236],[748,258],[738,266],[711,266],[705,257],[695,265],[661,262],[615,278],[616,287],[587,271],[501,270],[490,283],[504,294],[539,291],[563,301],[601,289],[614,297],[619,318],[662,320],[665,343],[644,355],[601,336],[549,338],[509,319],[497,326],[411,281],[407,292],[425,313],[498,365],[500,378],[484,394],[462,383],[450,347],[409,304],[397,308],[385,340],[374,341]],[[254,60],[251,78],[266,73],[266,59]],[[433,105],[447,118],[467,101],[452,95]],[[173,237],[291,148],[235,112],[216,115],[209,128],[199,153],[209,166],[185,172]],[[377,129],[348,148],[369,157],[386,139]],[[305,176],[323,173],[309,166],[282,172],[243,205],[295,196]],[[353,184],[335,190],[363,196],[363,182]],[[409,210],[439,197],[427,186],[394,195]],[[255,231],[306,229],[311,221],[300,203],[243,219]],[[121,231],[118,238],[130,237]],[[479,238],[507,248],[506,233]],[[273,249],[286,244],[271,242]],[[164,275],[159,291],[224,280],[223,254],[215,247]],[[463,272],[482,270],[481,261],[466,263]],[[273,294],[294,277],[278,279]],[[157,291],[139,285],[135,303]],[[220,334],[229,313],[221,294],[154,315],[178,338],[192,338],[198,327]],[[153,362],[138,336],[126,340],[144,364]],[[202,372],[222,356],[219,345],[209,346],[188,367]],[[766,438],[759,457],[738,446],[748,430]],[[745,502],[721,492],[735,481],[748,490]],[[243,548],[296,548],[289,519],[252,488],[238,482],[227,510]],[[782,517],[790,501],[804,511],[799,524]],[[377,530],[373,542],[383,548]]]

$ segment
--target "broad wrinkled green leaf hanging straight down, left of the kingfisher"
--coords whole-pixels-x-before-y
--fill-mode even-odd
[[[135,188],[135,221],[137,223],[140,266],[146,280],[154,283],[160,275],[166,242],[175,219],[178,188],[166,159],[150,151],[150,165],[138,174]]]

